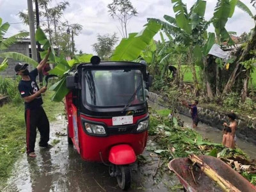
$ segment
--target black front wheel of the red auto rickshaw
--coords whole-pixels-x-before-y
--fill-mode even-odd
[[[118,183],[118,186],[122,190],[127,190],[131,186],[131,169],[129,165],[120,165],[116,166],[117,175],[116,180]]]

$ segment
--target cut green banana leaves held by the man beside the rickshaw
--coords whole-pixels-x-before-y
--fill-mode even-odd
[[[44,49],[44,51],[40,52],[40,56],[44,58],[47,53],[47,49],[51,47],[51,44],[41,28],[36,30],[36,40],[43,46],[42,49]],[[60,102],[69,92],[66,87],[66,76],[70,68],[79,63],[88,63],[90,62],[90,58],[92,58],[92,54],[83,54],[81,56],[75,56],[72,60],[67,61],[63,56],[57,57],[54,53],[54,49],[52,49],[49,56],[49,63],[54,63],[56,67],[50,70],[49,74],[59,77],[59,81],[49,88],[49,90],[53,90],[55,92],[52,96],[53,101]]]

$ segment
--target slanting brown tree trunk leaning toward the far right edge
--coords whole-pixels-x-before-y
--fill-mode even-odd
[[[239,60],[236,62],[236,68],[234,68],[234,71],[232,72],[230,78],[228,79],[228,83],[226,84],[222,94],[230,92],[232,86],[236,81],[236,73],[239,68],[240,62],[246,60],[246,56],[250,54],[250,51],[252,50],[253,47],[255,47],[255,45],[256,45],[256,26],[253,29],[252,36],[248,44],[246,45],[242,55],[240,56]]]

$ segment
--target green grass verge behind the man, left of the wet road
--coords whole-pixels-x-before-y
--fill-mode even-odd
[[[49,120],[63,113],[61,102],[52,102],[53,92],[43,95],[45,113]],[[10,177],[13,164],[26,152],[26,125],[24,120],[24,104],[5,104],[0,108],[0,188]]]

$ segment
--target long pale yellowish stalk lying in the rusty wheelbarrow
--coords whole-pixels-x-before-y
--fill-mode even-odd
[[[223,189],[223,191],[240,192],[239,189],[237,189],[235,186],[230,184],[228,180],[223,179],[218,173],[212,170],[212,168],[208,164],[205,164],[204,161],[202,161],[202,159],[200,159],[198,156],[191,154],[189,155],[189,159],[193,163],[196,163],[200,167],[202,172],[204,172],[205,175],[207,175],[212,180],[214,180],[218,184],[218,186],[220,186],[220,188]]]

